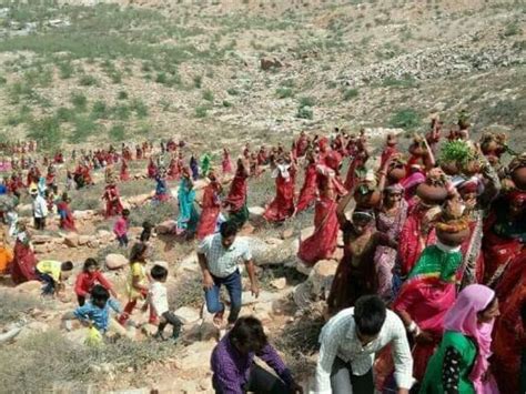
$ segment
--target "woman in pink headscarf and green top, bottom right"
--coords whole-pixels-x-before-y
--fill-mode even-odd
[[[465,287],[447,312],[444,336],[429,358],[421,394],[498,394],[487,378],[492,331],[498,316],[495,292],[482,284]]]

